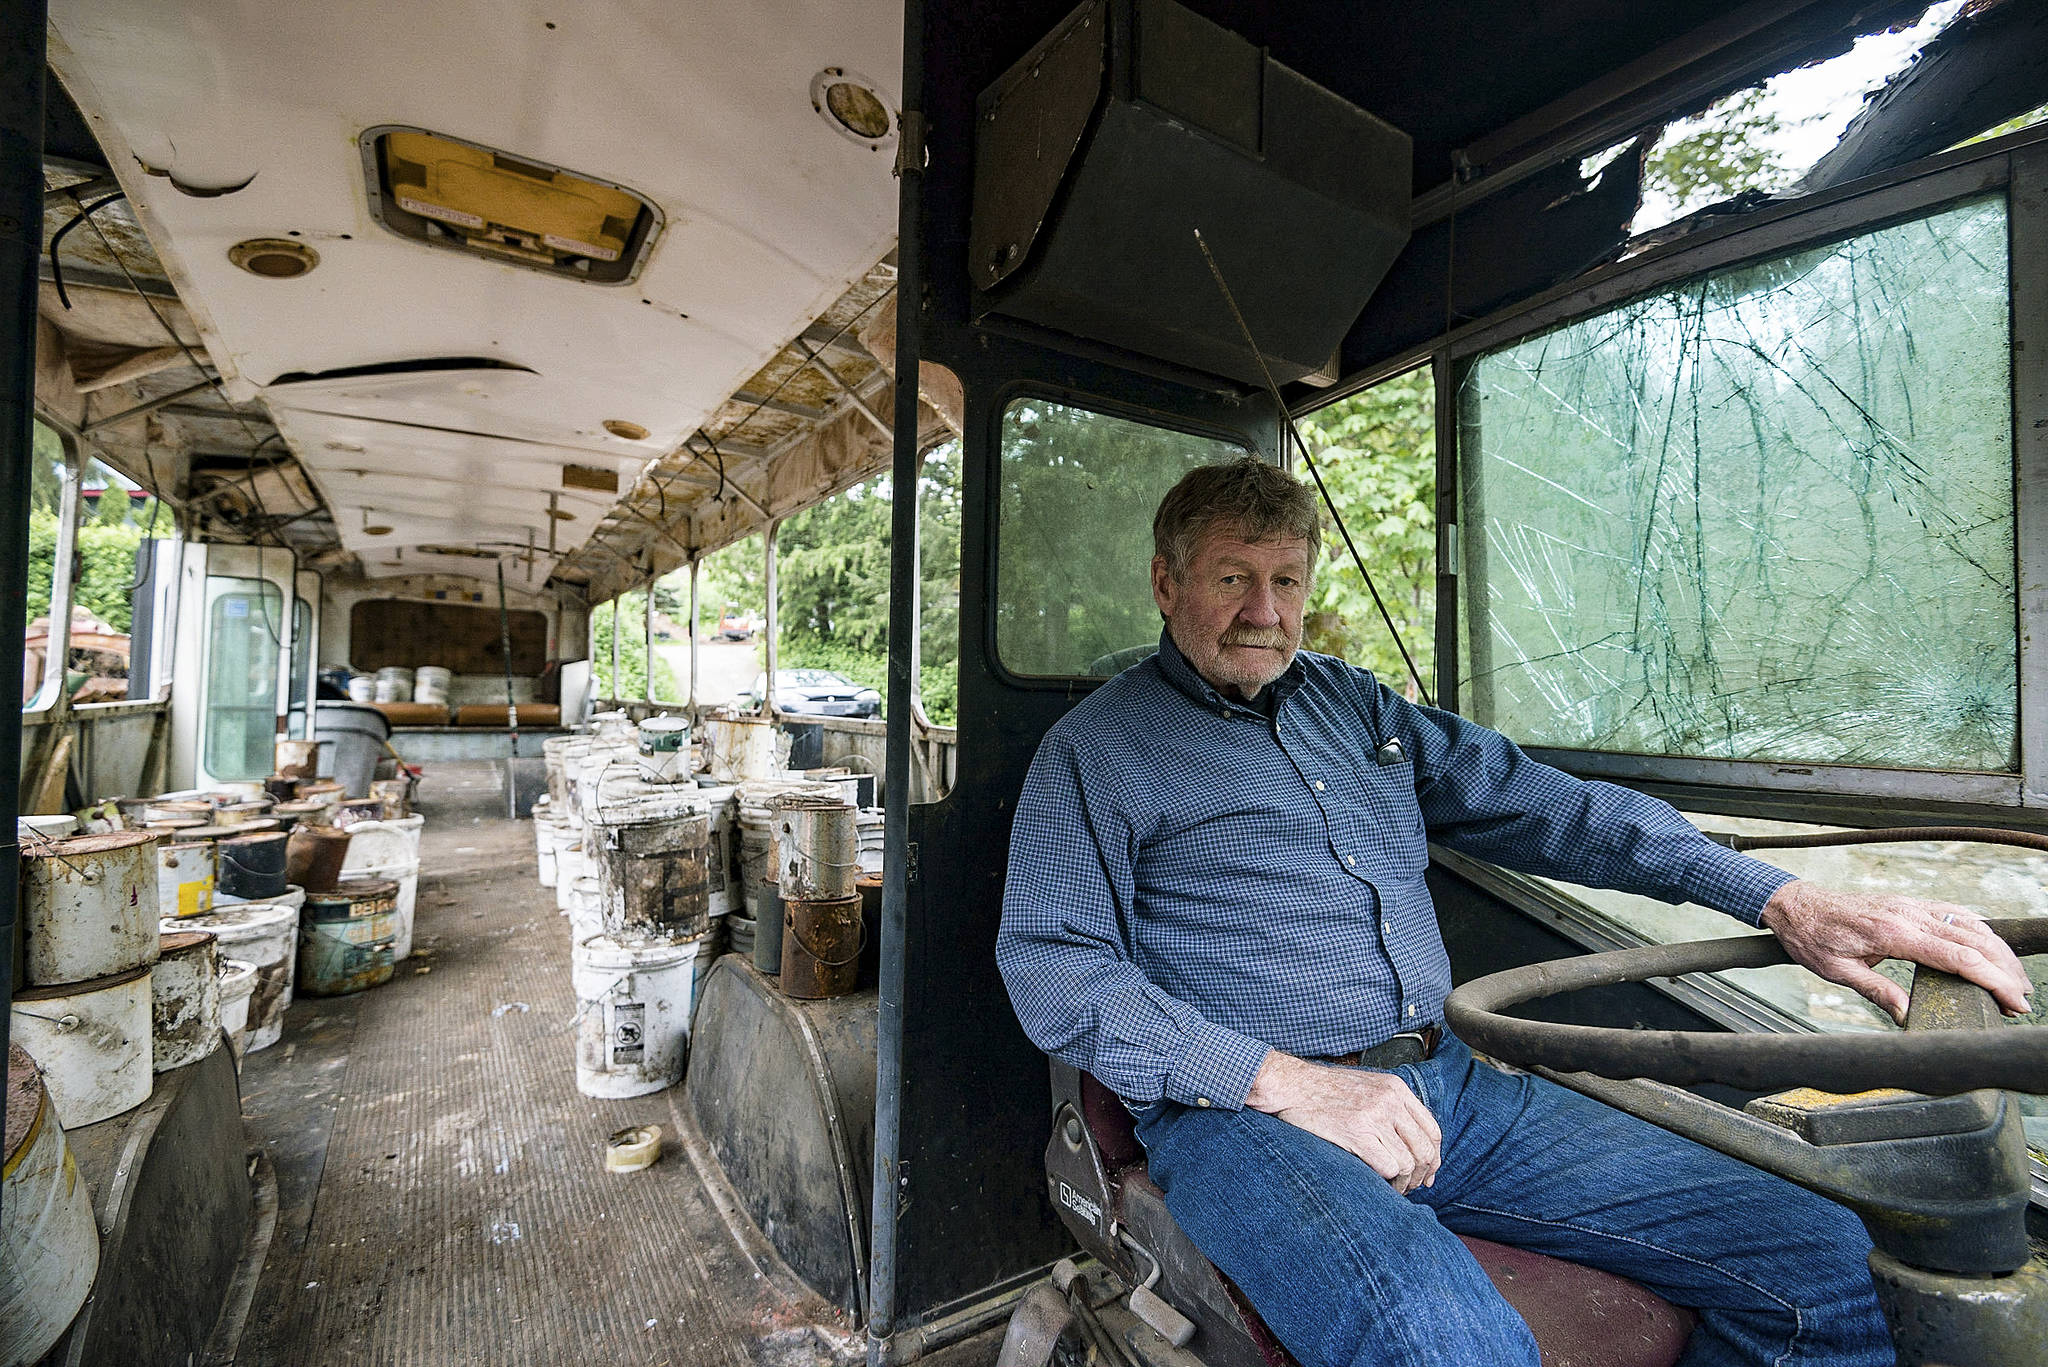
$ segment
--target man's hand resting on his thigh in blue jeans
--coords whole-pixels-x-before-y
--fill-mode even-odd
[[[1444,1131],[1393,1072],[1309,1064],[1274,1049],[1245,1105],[1356,1154],[1403,1195],[1436,1185],[1444,1162]]]

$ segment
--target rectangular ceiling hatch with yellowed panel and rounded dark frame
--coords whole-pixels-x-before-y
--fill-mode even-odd
[[[358,146],[371,215],[414,242],[625,285],[662,232],[645,195],[547,162],[391,125]]]

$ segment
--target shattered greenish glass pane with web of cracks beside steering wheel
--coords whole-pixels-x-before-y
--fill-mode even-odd
[[[1466,711],[1632,754],[2017,769],[2003,197],[1479,357]]]

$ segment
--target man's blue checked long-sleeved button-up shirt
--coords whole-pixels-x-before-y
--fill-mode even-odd
[[[1440,1021],[1427,840],[1751,924],[1792,881],[1343,660],[1303,652],[1257,703],[1161,635],[1024,779],[995,959],[1032,1041],[1130,1103],[1235,1109],[1268,1047],[1350,1053]]]

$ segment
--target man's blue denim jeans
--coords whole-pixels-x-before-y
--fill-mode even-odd
[[[1538,1367],[1470,1234],[1632,1277],[1700,1314],[1683,1367],[1892,1367],[1870,1238],[1833,1201],[1479,1062],[1395,1068],[1444,1129],[1434,1187],[1260,1111],[1139,1113],[1182,1230],[1303,1367]]]

